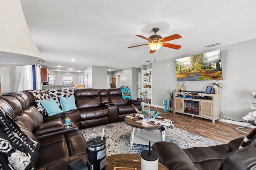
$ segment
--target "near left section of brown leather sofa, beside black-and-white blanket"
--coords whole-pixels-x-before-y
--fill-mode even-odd
[[[76,131],[66,131],[66,133],[60,130],[59,135],[58,133],[51,135],[49,133],[51,128],[49,128],[44,130],[46,134],[43,137],[36,137],[35,134],[40,126],[50,123],[54,125],[53,130],[58,131],[63,123],[59,116],[44,122],[44,117],[33,105],[34,98],[29,95],[26,92],[12,92],[0,96],[0,108],[17,123],[30,139],[40,143],[36,168],[39,170],[65,170],[69,163],[78,159],[86,164],[86,149],[84,147],[86,141],[78,129]]]

